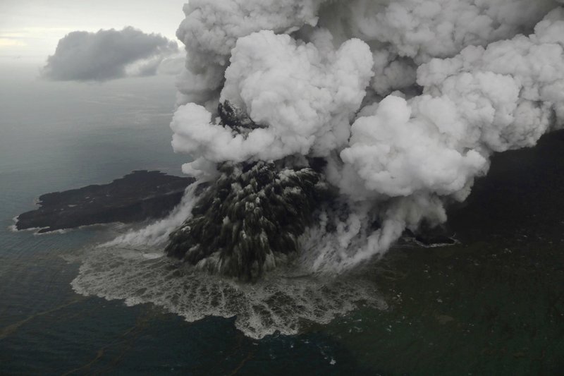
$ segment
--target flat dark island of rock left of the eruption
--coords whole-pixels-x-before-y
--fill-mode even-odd
[[[90,224],[140,222],[164,217],[175,207],[193,178],[159,171],[133,171],[102,186],[92,185],[39,197],[40,207],[20,214],[16,229],[40,233]]]

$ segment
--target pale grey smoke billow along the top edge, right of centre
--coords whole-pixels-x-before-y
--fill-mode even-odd
[[[529,32],[555,7],[553,0],[328,1],[320,24],[419,64]]]

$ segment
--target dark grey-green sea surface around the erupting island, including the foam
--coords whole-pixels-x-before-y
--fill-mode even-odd
[[[180,269],[158,248],[96,246],[127,226],[11,231],[42,193],[135,169],[180,174],[188,157],[170,145],[173,78],[1,80],[1,374],[564,370],[563,133],[494,158],[450,210],[457,245],[403,241],[350,275],[281,271],[237,286]]]

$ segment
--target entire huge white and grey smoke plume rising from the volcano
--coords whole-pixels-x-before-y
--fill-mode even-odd
[[[207,179],[225,162],[324,159],[338,198],[305,258],[356,265],[446,222],[492,153],[563,126],[562,3],[192,0],[173,147]],[[229,126],[227,103],[253,126]]]

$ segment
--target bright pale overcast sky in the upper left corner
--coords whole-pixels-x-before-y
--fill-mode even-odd
[[[0,64],[40,65],[68,32],[133,26],[176,40],[187,0],[0,0]],[[1,67],[0,67],[1,68]]]

